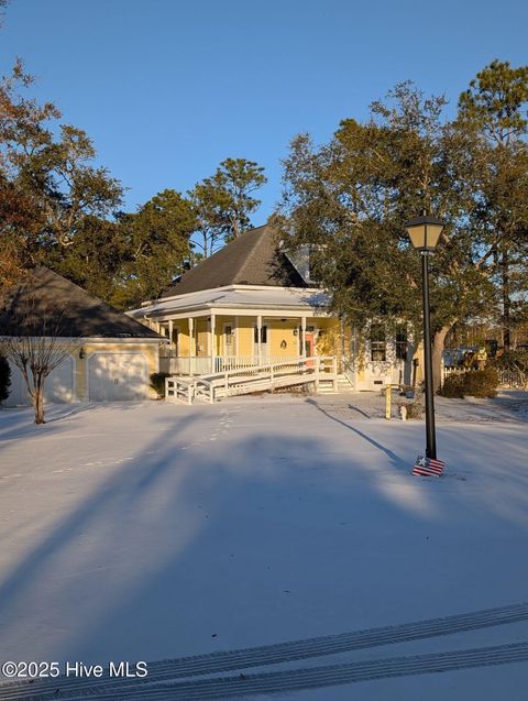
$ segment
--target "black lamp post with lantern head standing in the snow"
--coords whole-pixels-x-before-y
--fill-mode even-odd
[[[407,233],[415,249],[421,253],[421,278],[424,302],[424,362],[426,381],[426,456],[437,459],[435,430],[435,398],[432,392],[432,349],[429,310],[429,255],[435,253],[443,222],[433,217],[418,217],[406,223]]]

